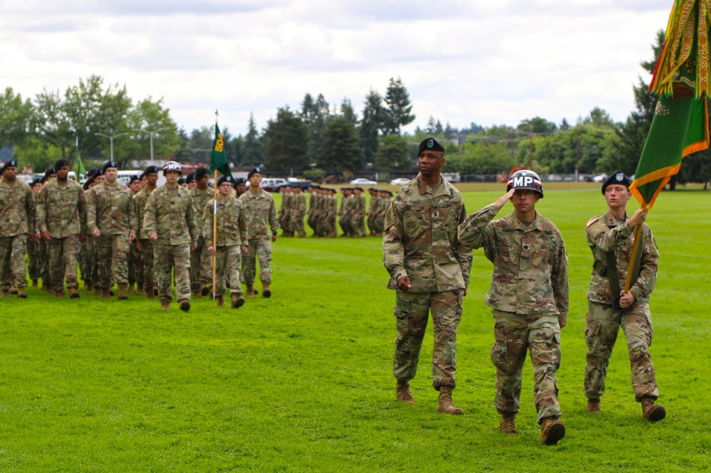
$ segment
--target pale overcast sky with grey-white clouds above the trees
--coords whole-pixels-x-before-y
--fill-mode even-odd
[[[33,98],[101,75],[178,126],[244,134],[306,92],[360,113],[400,77],[424,127],[624,121],[673,0],[0,0],[0,87]]]

